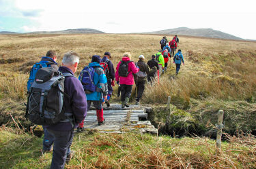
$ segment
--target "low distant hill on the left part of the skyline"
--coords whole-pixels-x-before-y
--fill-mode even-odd
[[[35,34],[82,34],[82,33],[104,33],[96,29],[67,29],[63,31],[38,31],[30,32]]]

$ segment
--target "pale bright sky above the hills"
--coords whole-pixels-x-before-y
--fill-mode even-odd
[[[255,6],[254,0],[0,0],[0,31],[142,33],[188,27],[256,39]]]

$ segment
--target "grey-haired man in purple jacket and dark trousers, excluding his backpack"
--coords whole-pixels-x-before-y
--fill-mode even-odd
[[[46,126],[49,133],[53,134],[53,158],[51,168],[64,168],[72,157],[70,146],[74,136],[74,128],[85,119],[87,115],[87,99],[79,79],[74,77],[79,64],[79,56],[75,52],[67,52],[63,56],[61,73],[70,73],[73,76],[65,77],[64,92],[70,96],[63,99],[65,113],[72,113],[72,121],[60,121],[52,126]]]

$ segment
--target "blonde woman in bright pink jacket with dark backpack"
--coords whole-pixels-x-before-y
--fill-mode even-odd
[[[132,85],[134,83],[133,74],[139,72],[139,68],[135,66],[130,59],[132,56],[129,52],[124,53],[124,57],[117,64],[117,71],[115,72],[115,79],[117,84],[121,86],[121,101],[122,108],[129,107],[128,102],[130,94],[132,94]]]

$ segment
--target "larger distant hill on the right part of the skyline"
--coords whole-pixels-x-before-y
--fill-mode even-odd
[[[216,31],[214,29],[189,29],[186,27],[148,32],[147,34],[165,34],[165,35],[176,35],[177,34],[177,35],[187,35],[187,36],[195,36],[195,37],[210,37],[210,38],[243,40],[240,37],[236,37],[236,36],[230,35],[228,33],[223,33],[221,31]]]

